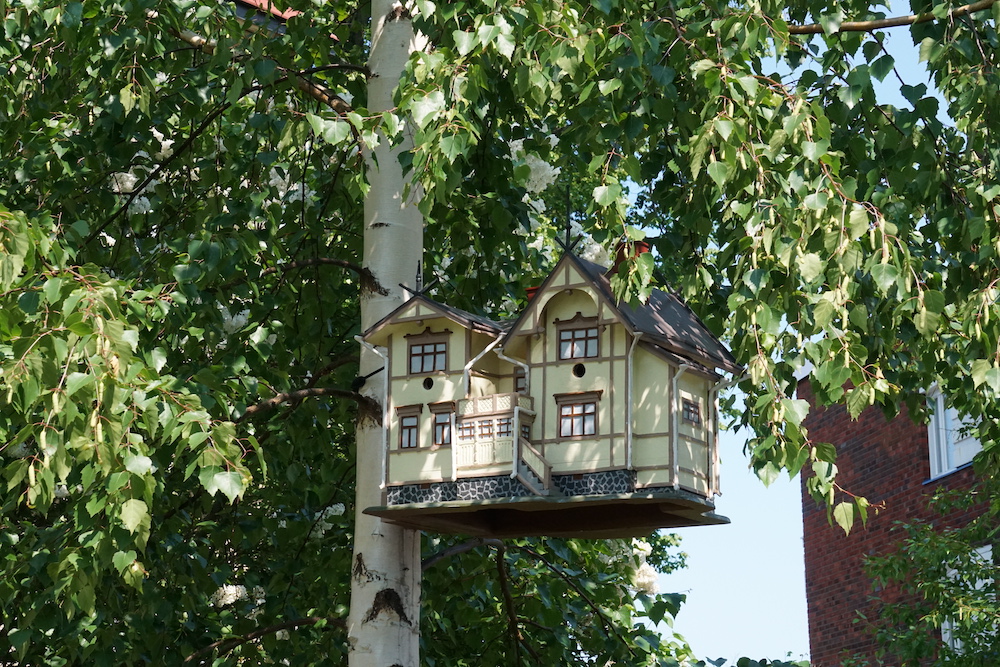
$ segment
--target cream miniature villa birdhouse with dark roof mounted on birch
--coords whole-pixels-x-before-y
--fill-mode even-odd
[[[512,323],[423,294],[374,325],[388,373],[386,521],[490,537],[727,523],[716,397],[729,351],[679,299],[616,303],[567,253]]]

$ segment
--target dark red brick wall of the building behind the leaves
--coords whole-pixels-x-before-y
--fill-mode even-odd
[[[972,471],[959,470],[935,482],[930,476],[927,427],[914,424],[904,411],[886,420],[877,409],[851,420],[843,406],[820,409],[808,382],[799,385],[799,398],[812,410],[805,426],[816,442],[837,447],[837,481],[873,505],[866,527],[856,525],[850,535],[830,525],[826,508],[817,505],[802,485],[802,523],[805,548],[806,600],[809,610],[809,646],[812,667],[835,667],[845,657],[860,655],[876,664],[876,645],[865,624],[855,622],[858,612],[877,618],[869,596],[871,581],[865,577],[865,554],[883,553],[901,536],[893,531],[897,521],[930,517],[929,495],[938,488],[963,488],[971,484]],[[839,499],[838,499],[839,500]],[[949,518],[961,520],[960,518]]]

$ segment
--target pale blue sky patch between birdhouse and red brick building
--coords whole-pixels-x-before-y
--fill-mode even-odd
[[[747,467],[746,437],[719,440],[716,507],[732,523],[675,531],[688,567],[659,581],[661,592],[688,596],[674,629],[702,659],[808,658],[799,481],[766,488]]]

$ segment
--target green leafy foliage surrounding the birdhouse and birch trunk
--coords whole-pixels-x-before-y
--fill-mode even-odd
[[[802,426],[806,365],[820,400],[854,414],[920,414],[939,383],[982,423],[977,465],[995,469],[995,12],[910,28],[949,125],[922,85],[879,103],[872,79],[895,76],[881,34],[837,32],[881,11],[857,1],[423,0],[434,48],[381,115],[364,108],[366,5],[290,6],[271,32],[195,0],[3,5],[0,601],[15,659],[212,660],[215,642],[249,661],[341,659],[353,335],[379,288],[358,266],[360,148],[400,140],[406,119],[426,266],[449,302],[522,298],[569,183],[574,233],[654,246],[620,269],[620,294],[676,289],[745,365],[734,417],[761,479],[811,470],[845,528],[864,519],[835,448]],[[823,35],[789,32],[814,19]],[[667,566],[661,546],[650,562]],[[485,636],[455,625],[481,591],[490,636],[506,628],[481,647],[492,657],[671,664],[683,647],[641,621],[676,598],[633,598],[599,565],[609,550],[513,543],[436,565],[452,587],[428,574],[428,661]],[[543,646],[532,622],[558,633]]]

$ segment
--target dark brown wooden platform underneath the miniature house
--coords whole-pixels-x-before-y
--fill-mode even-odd
[[[642,537],[661,528],[729,523],[683,490],[604,496],[494,498],[369,507],[365,514],[432,533],[478,537]]]

